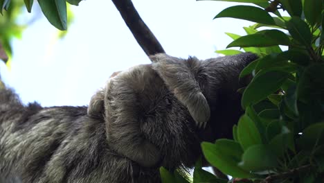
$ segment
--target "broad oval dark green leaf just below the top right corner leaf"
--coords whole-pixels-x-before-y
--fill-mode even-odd
[[[291,17],[289,21],[286,22],[287,29],[290,35],[305,46],[310,46],[312,42],[312,34],[309,27],[299,17]]]

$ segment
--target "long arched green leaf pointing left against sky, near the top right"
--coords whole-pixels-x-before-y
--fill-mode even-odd
[[[249,13],[246,13],[249,12]],[[255,16],[258,15],[258,16]],[[231,17],[236,19],[245,19],[262,24],[274,25],[275,22],[269,13],[255,6],[232,6],[222,10],[215,18]],[[214,18],[214,19],[215,19]]]

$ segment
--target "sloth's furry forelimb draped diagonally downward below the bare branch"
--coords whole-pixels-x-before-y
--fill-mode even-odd
[[[199,60],[183,60],[161,53],[151,56],[150,59],[153,69],[159,73],[174,96],[187,107],[197,125],[205,127],[210,118],[210,108],[195,79]]]

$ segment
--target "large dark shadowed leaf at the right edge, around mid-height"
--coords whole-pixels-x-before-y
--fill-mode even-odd
[[[324,101],[324,64],[312,64],[305,69],[297,86],[297,96],[300,101]]]

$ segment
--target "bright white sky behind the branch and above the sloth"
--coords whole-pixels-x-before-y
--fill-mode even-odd
[[[231,38],[225,32],[245,35],[242,26],[252,22],[215,19],[218,12],[237,3],[195,0],[133,0],[139,14],[173,56],[216,57]],[[32,14],[39,11],[33,6]],[[21,40],[12,42],[10,71],[0,64],[3,80],[15,88],[24,103],[44,106],[87,105],[114,71],[150,63],[108,0],[82,1],[72,6],[75,19],[69,32],[57,40],[57,30],[43,17]]]

